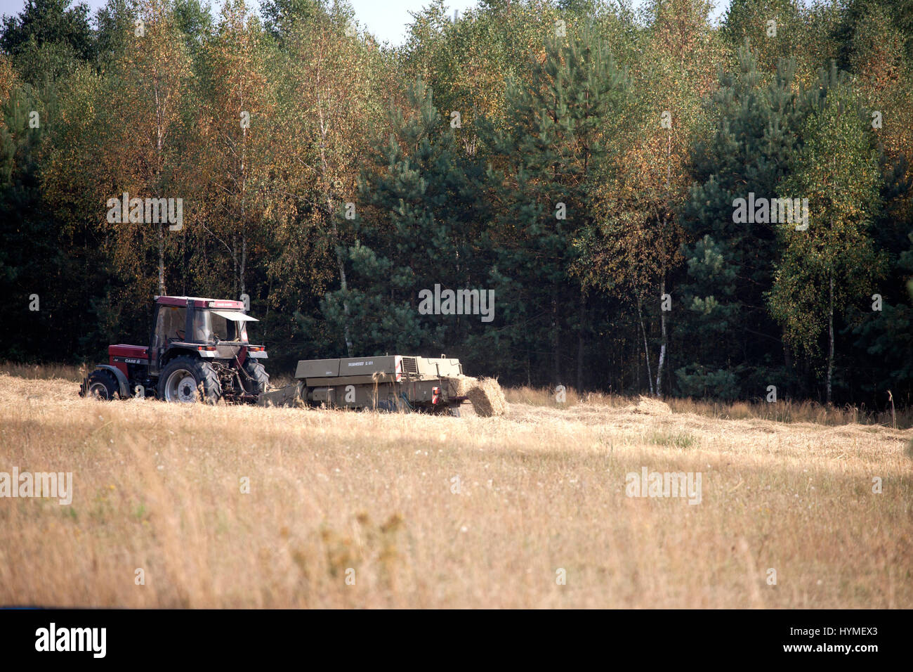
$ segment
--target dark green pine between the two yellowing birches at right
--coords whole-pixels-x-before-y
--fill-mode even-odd
[[[799,143],[803,105],[792,89],[791,62],[782,61],[770,82],[748,48],[740,49],[739,63],[737,72],[720,76],[716,132],[693,148],[697,184],[682,215],[693,240],[683,249],[686,315],[677,324],[678,342],[688,344],[693,360],[676,371],[686,395],[731,399],[774,380],[786,387],[790,362],[764,299],[778,254],[775,228],[735,221],[734,207],[752,193],[777,197]]]

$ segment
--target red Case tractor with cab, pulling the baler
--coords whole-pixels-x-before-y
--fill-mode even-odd
[[[109,346],[109,363],[89,374],[79,395],[256,402],[269,384],[257,361],[267,351],[248,343],[248,322],[257,320],[240,301],[156,296],[149,347]]]

